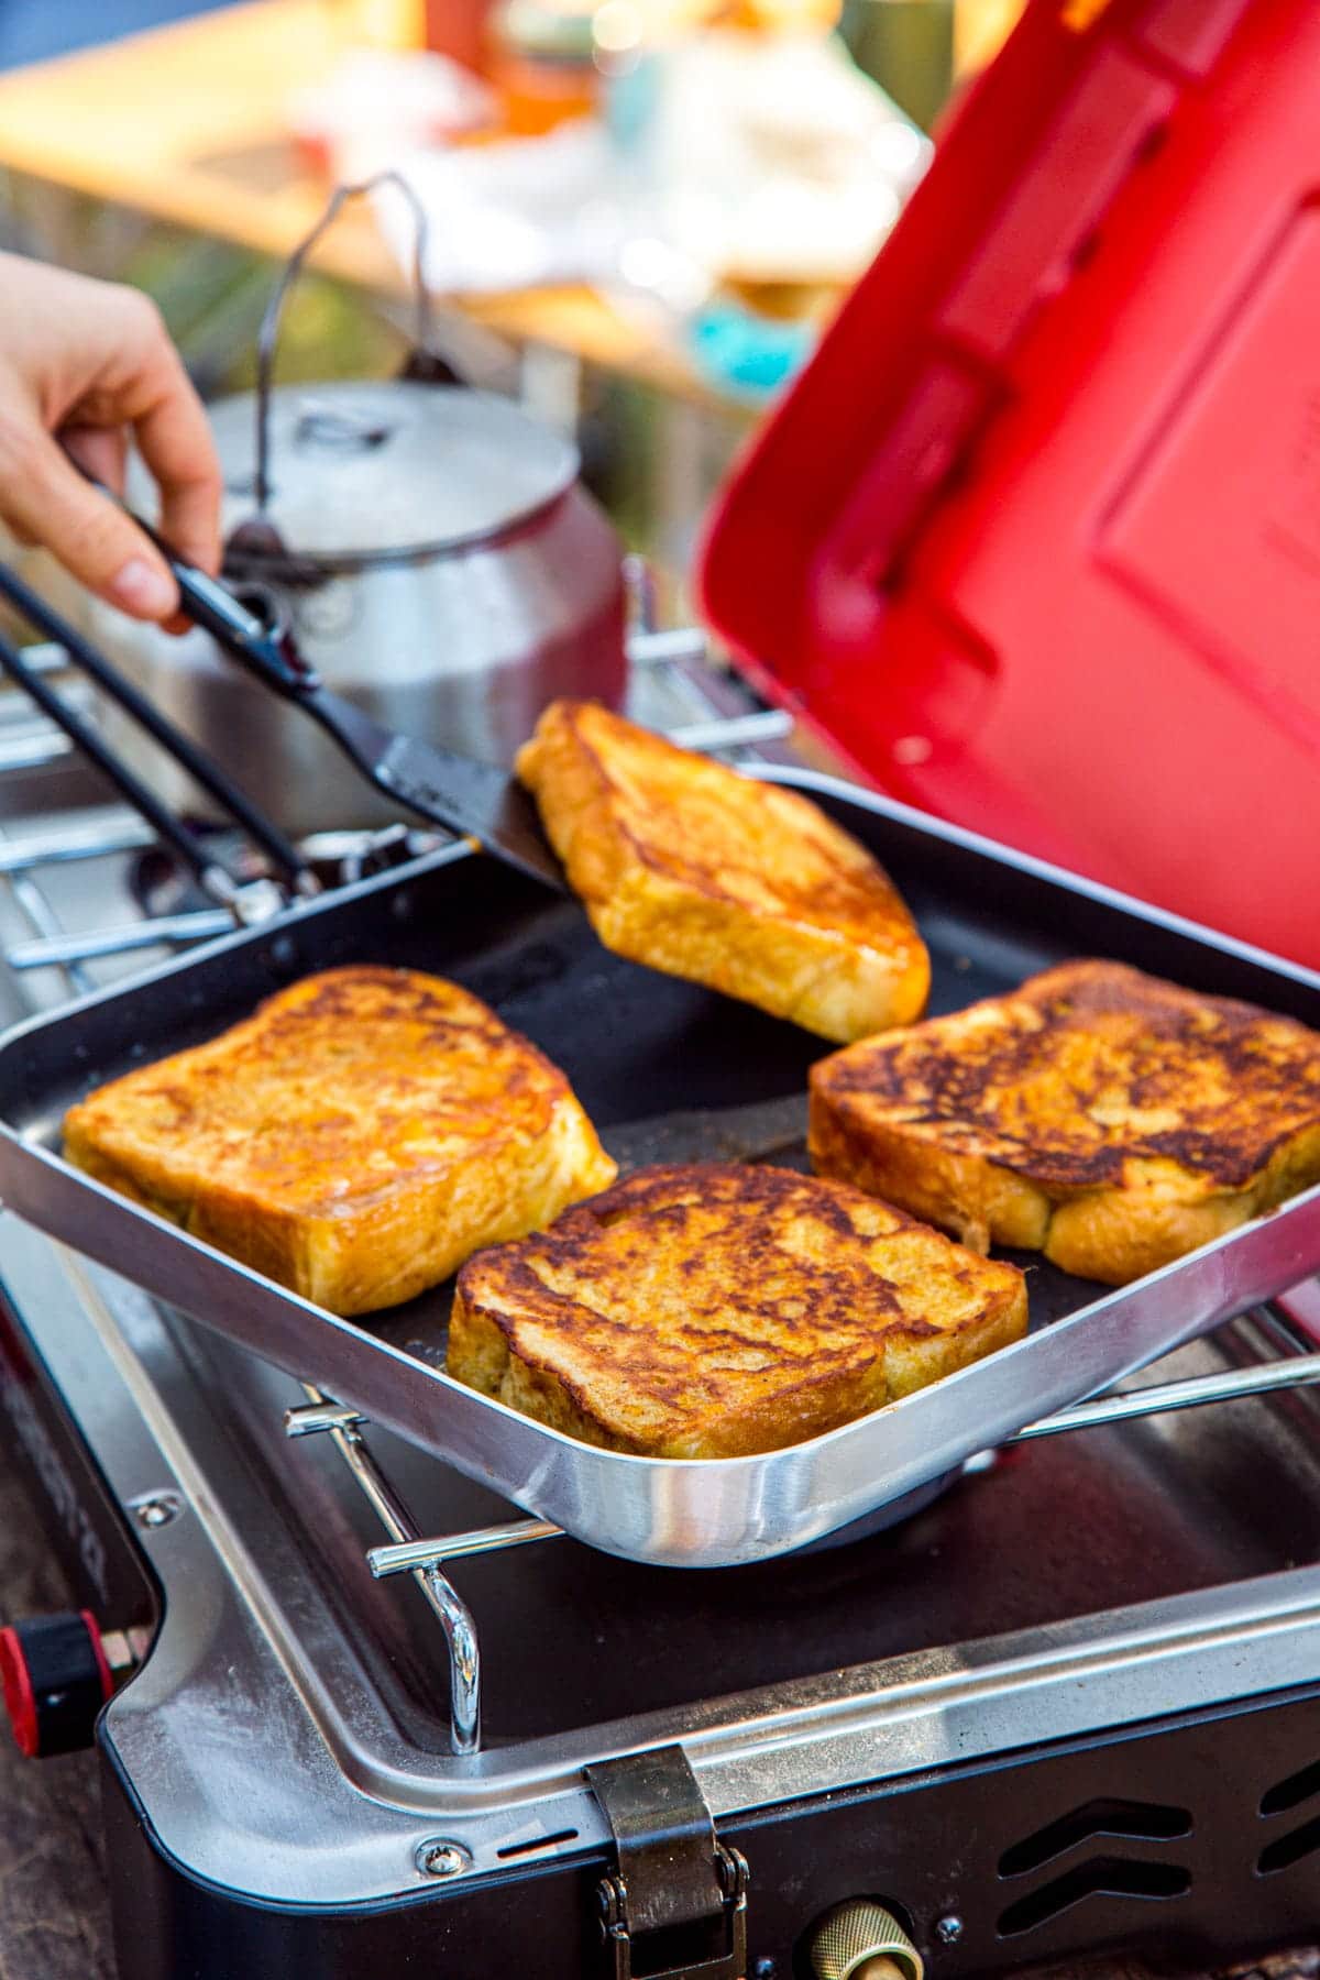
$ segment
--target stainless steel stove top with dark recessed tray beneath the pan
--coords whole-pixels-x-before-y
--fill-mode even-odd
[[[683,719],[710,713],[663,671]],[[649,669],[641,713],[673,723],[659,693]],[[0,762],[4,735],[0,715]],[[61,810],[38,820],[42,778]],[[18,1016],[69,994],[81,931],[133,921],[141,836],[79,806],[53,752],[0,776],[6,798],[24,812],[0,838]],[[63,857],[87,842],[105,851]],[[137,960],[73,968],[99,982]],[[158,1841],[218,1887],[354,1905],[600,1849],[582,1768],[669,1740],[726,1818],[1314,1677],[1320,1402],[1298,1392],[988,1457],[887,1534],[760,1568],[641,1568],[564,1538],[455,1560],[485,1742],[453,1752],[435,1614],[366,1572],[380,1523],[330,1439],[283,1436],[299,1384],[12,1218],[0,1281],[164,1596],[103,1736]],[[1259,1313],[1158,1378],[1304,1346]],[[386,1434],[370,1447],[422,1531],[517,1517]]]

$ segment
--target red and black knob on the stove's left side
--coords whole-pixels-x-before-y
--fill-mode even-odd
[[[38,1616],[0,1630],[0,1687],[30,1760],[91,1746],[115,1689],[95,1616]]]

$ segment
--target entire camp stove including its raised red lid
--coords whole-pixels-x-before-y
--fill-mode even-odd
[[[1312,960],[1316,22],[1033,0],[701,570],[887,790]],[[645,721],[794,744],[675,638]],[[0,766],[14,1016],[228,927],[154,883],[142,919],[142,830],[22,711]],[[99,1748],[123,1980],[1314,1942],[1320,1404],[1278,1386],[1314,1289],[889,1531],[695,1570],[556,1536],[14,1218],[0,1287],[8,1445],[85,1604],[8,1691],[34,1750]],[[1136,1414],[1174,1378],[1219,1400]]]

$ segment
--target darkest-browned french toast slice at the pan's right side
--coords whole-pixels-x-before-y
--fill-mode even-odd
[[[1124,1285],[1320,1182],[1320,1034],[1065,962],[811,1069],[813,1166]]]

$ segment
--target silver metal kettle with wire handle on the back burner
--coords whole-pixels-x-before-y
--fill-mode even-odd
[[[263,325],[259,390],[212,408],[230,582],[293,630],[336,693],[487,762],[509,762],[556,695],[617,707],[621,546],[578,481],[576,449],[461,384],[271,386],[291,273]],[[133,471],[129,497],[146,499]],[[392,816],[315,723],[208,634],[176,640],[107,606],[93,630],[285,830]],[[105,725],[176,810],[206,816],[150,742],[113,711]]]

